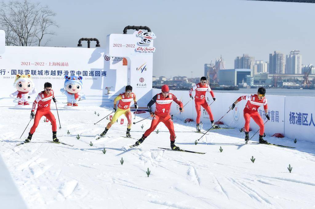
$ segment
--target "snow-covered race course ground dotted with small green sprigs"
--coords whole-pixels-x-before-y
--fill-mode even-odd
[[[28,208],[315,208],[313,143],[298,140],[295,144],[292,139],[267,136],[271,143],[296,148],[244,145],[244,135],[238,129],[219,129],[209,131],[195,145],[201,137],[192,132],[195,124],[174,118],[176,144],[206,154],[159,149],[169,148],[169,132],[162,123],[158,134],[152,132],[139,147],[129,148],[149,128],[151,119],[133,125],[135,139],[128,139],[122,137],[127,122],[122,116],[123,125],[114,124],[106,137],[96,141],[95,136],[109,120],[94,123],[111,109],[59,106],[62,129],[57,135],[73,147],[47,142],[52,133],[44,118],[31,143],[15,146],[25,140],[31,128],[32,122],[19,140],[30,110],[1,107],[0,154]],[[54,104],[52,112],[57,119]],[[133,121],[147,116],[139,114]],[[287,169],[289,164],[292,173]],[[147,168],[151,170],[149,177]]]

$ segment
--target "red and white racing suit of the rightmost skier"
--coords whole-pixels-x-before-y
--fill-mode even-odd
[[[260,117],[258,113],[258,108],[261,106],[264,106],[264,110],[267,110],[268,109],[267,99],[263,97],[261,100],[259,100],[257,94],[251,94],[251,95],[246,95],[246,96],[240,96],[237,99],[237,101],[241,101],[241,100],[247,100],[247,103],[243,110],[246,132],[249,131],[249,121],[250,121],[250,117],[252,117],[255,123],[259,125],[260,127],[259,135],[264,135],[264,131],[265,131],[264,121],[262,120],[262,118]]]

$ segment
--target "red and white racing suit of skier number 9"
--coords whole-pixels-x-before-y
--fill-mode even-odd
[[[195,84],[190,90],[189,90],[189,96],[192,96],[192,92],[196,91],[195,95],[195,108],[197,112],[197,118],[196,123],[200,123],[200,116],[201,116],[201,110],[200,106],[202,106],[207,113],[209,114],[210,121],[213,121],[213,114],[211,112],[210,106],[206,102],[206,92],[209,91],[212,98],[215,97],[213,91],[211,90],[210,86],[208,84],[201,85],[201,83]]]

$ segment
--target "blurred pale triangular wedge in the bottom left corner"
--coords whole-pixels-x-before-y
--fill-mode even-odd
[[[0,155],[0,208],[26,209],[26,205],[17,190],[13,179]]]

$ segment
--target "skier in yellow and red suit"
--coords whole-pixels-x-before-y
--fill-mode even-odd
[[[116,108],[117,101],[119,101],[118,108]],[[135,109],[138,109],[138,105],[137,105],[137,101],[136,101],[136,95],[135,95],[135,93],[132,93],[132,86],[127,85],[125,88],[125,93],[119,94],[114,99],[113,118],[107,124],[103,133],[100,134],[100,137],[104,137],[106,135],[108,129],[111,128],[112,124],[114,124],[122,114],[124,114],[128,120],[126,137],[131,137],[130,129],[131,129],[132,123],[131,123],[130,103],[132,101],[135,102]]]

